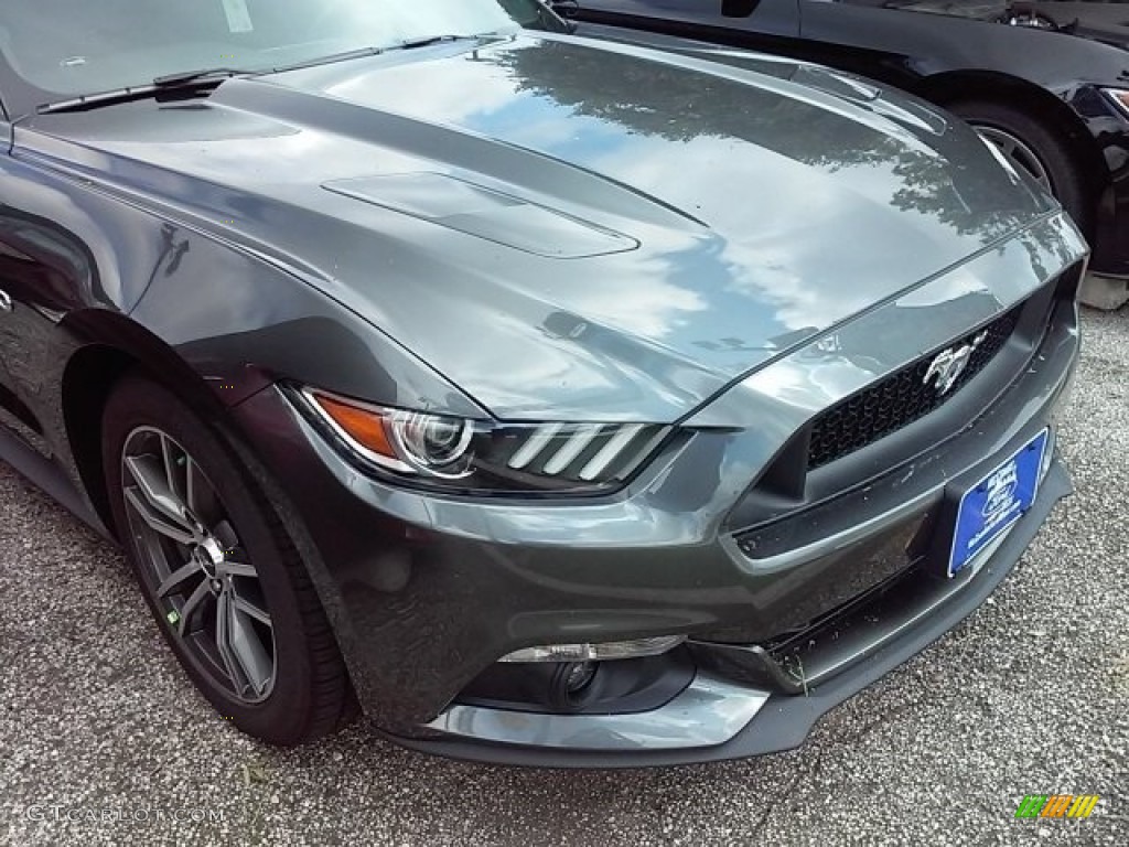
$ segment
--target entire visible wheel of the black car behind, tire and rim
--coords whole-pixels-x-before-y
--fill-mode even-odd
[[[998,103],[963,101],[948,104],[948,108],[1058,198],[1075,222],[1088,232],[1093,203],[1079,165],[1058,134],[1026,113]]]

